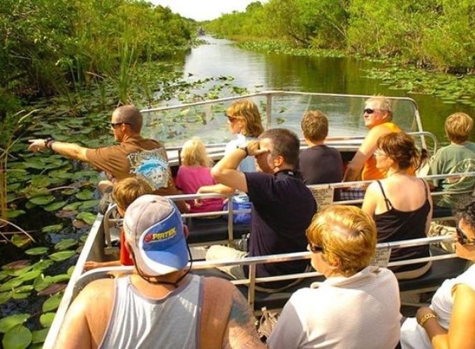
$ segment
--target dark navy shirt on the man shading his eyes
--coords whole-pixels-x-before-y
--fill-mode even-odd
[[[249,256],[305,251],[305,230],[316,212],[309,188],[289,170],[277,174],[244,172],[244,175],[247,195],[253,204]],[[306,266],[307,260],[263,264],[256,267],[256,276],[300,273]],[[269,283],[265,287],[279,288],[289,282]]]

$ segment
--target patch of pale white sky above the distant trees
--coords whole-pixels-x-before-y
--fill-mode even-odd
[[[256,0],[149,0],[155,5],[168,6],[174,13],[193,20],[214,20],[233,10],[244,11]],[[261,1],[263,2],[263,1]]]

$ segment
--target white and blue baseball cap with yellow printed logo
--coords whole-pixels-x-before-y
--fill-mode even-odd
[[[126,242],[136,264],[149,276],[170,274],[188,263],[188,248],[180,211],[168,198],[142,195],[124,215]]]

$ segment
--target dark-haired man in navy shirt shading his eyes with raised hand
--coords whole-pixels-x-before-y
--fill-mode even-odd
[[[309,188],[296,172],[300,141],[295,133],[273,128],[258,141],[248,142],[224,156],[211,170],[218,183],[244,191],[253,204],[249,254],[225,246],[212,246],[207,260],[243,258],[305,251],[305,230],[316,212]],[[236,170],[246,156],[256,158],[258,172]],[[256,276],[278,276],[304,272],[306,260],[258,265]],[[224,269],[224,268],[223,268]],[[247,277],[247,268],[224,269],[238,279]],[[285,288],[288,281],[261,284],[265,288]]]

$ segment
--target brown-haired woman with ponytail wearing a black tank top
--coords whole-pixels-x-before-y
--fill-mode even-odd
[[[376,166],[387,177],[368,186],[363,211],[374,217],[379,242],[426,237],[432,218],[429,186],[415,177],[414,170],[428,158],[425,149],[417,149],[407,133],[388,133],[377,141]],[[390,260],[429,257],[429,246],[394,248]],[[428,272],[430,262],[391,268],[397,279],[414,279]]]

